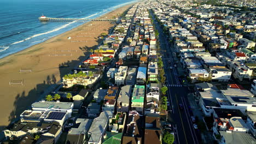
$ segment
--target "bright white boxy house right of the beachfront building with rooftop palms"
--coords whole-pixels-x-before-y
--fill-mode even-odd
[[[115,84],[118,86],[125,84],[128,67],[120,66],[117,73],[115,73]]]

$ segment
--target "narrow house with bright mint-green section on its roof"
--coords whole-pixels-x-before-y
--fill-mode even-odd
[[[132,92],[131,108],[137,112],[144,113],[145,86],[135,85]]]

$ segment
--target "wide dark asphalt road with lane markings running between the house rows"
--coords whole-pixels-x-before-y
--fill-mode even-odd
[[[168,122],[173,125],[175,143],[201,143],[200,132],[194,128],[191,121],[193,113],[190,110],[187,98],[189,88],[182,86],[182,82],[178,79],[178,70],[174,67],[176,62],[174,59],[176,54],[173,53],[174,47],[168,44],[166,35],[160,25],[156,21],[154,23],[159,32],[161,50],[164,51],[162,52],[162,61],[167,80],[165,85],[168,87],[167,98],[170,103],[170,106],[168,106]],[[179,104],[182,104],[184,109],[179,109]]]

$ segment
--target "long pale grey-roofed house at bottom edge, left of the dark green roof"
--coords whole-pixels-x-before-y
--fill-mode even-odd
[[[111,111],[103,111],[100,116],[96,117],[88,131],[88,144],[100,144],[103,141],[103,136],[108,128],[109,119],[113,117]]]

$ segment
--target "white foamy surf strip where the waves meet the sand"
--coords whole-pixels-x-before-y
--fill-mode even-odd
[[[102,15],[100,15],[100,16],[98,16],[98,17],[95,17],[94,19],[99,19],[99,18],[103,17],[104,15],[107,15],[107,14],[111,13],[111,12],[114,11],[114,10],[117,10],[117,9],[119,9],[119,8],[125,7],[126,5],[130,5],[130,4],[134,4],[134,3],[136,3],[136,1],[132,1],[132,2],[128,2],[128,3],[124,3],[124,4],[120,4],[120,5],[114,6],[114,9],[108,11],[107,13],[103,13]],[[92,22],[92,21],[85,22],[85,23],[83,23],[83,24],[81,24],[81,25],[79,25],[79,26],[73,27],[72,29],[69,29],[68,31],[65,31],[65,32],[62,32],[62,33],[60,33],[60,34],[54,35],[54,36],[52,36],[52,37],[50,37],[50,38],[45,38],[46,40],[42,40],[42,41],[39,40],[39,41],[41,41],[40,43],[31,45],[31,46],[29,46],[29,47],[27,47],[27,48],[25,48],[25,49],[23,49],[23,50],[20,50],[20,51],[14,52],[14,53],[10,53],[10,54],[7,55],[7,56],[3,56],[3,57],[0,56],[0,65],[1,65],[1,59],[5,58],[5,57],[11,56],[11,55],[15,55],[16,53],[19,53],[19,52],[22,52],[22,51],[24,51],[24,50],[30,49],[30,48],[33,47],[33,46],[36,46],[36,45],[38,45],[38,44],[42,44],[42,43],[44,43],[44,42],[46,42],[46,41],[48,41],[48,40],[50,40],[50,39],[53,39],[53,38],[57,37],[58,35],[67,33],[67,32],[69,32],[69,31],[73,31],[73,29],[78,28],[78,27],[83,26],[83,25],[86,25],[86,23],[90,23],[90,22]],[[60,29],[60,30],[61,30],[61,29]],[[35,41],[33,41],[33,43],[35,43]]]

